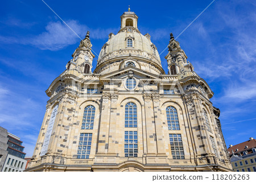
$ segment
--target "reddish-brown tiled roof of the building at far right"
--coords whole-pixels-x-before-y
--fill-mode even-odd
[[[245,146],[248,146],[248,147],[246,148]],[[242,151],[251,150],[251,148],[256,148],[256,140],[255,139],[247,140],[245,142],[238,143],[232,147],[229,147],[228,152],[229,152],[229,155],[232,155],[233,152],[234,152],[234,154],[238,154],[239,152],[242,152]],[[232,152],[232,150],[233,150],[233,152]],[[248,153],[250,154],[250,152],[248,152]]]

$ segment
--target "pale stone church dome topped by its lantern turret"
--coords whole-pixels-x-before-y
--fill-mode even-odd
[[[159,53],[150,35],[142,35],[137,27],[138,16],[127,11],[121,16],[121,29],[117,35],[109,34],[109,40],[101,49],[94,73],[105,73],[125,67],[123,60],[131,59],[140,69],[163,74]],[[117,63],[113,64],[111,63]],[[130,60],[129,60],[130,63]]]

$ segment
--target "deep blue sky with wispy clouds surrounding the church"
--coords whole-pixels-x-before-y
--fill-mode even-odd
[[[131,11],[159,53],[212,1],[45,1],[81,37],[90,31],[99,54],[120,16]],[[256,138],[256,2],[216,0],[177,38],[195,72],[214,92],[226,144]],[[31,156],[48,97],[80,39],[40,0],[0,7],[0,126],[23,140]],[[167,62],[160,56],[167,73]],[[93,60],[96,66],[97,56]]]

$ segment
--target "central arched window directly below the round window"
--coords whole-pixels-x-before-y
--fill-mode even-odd
[[[125,127],[137,127],[137,106],[133,102],[125,106]]]

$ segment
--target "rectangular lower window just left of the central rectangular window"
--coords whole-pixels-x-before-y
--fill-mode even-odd
[[[92,133],[81,133],[77,150],[77,159],[89,159],[91,145]]]

